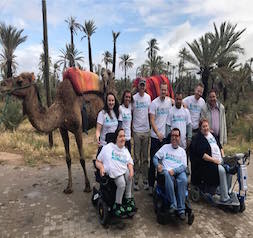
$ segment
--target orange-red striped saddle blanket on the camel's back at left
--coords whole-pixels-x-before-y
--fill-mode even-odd
[[[97,74],[83,71],[77,68],[68,68],[63,74],[63,80],[71,81],[77,94],[83,94],[89,91],[99,91],[99,77]]]

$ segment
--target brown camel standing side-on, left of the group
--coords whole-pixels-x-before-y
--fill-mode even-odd
[[[32,126],[38,131],[49,133],[59,128],[68,167],[68,184],[64,189],[66,194],[73,192],[68,132],[74,134],[84,172],[84,192],[90,192],[90,182],[83,152],[81,108],[85,103],[89,121],[88,129],[96,126],[97,114],[104,106],[104,94],[113,91],[113,74],[108,70],[102,71],[101,86],[104,88],[104,92],[92,91],[82,96],[76,94],[70,80],[63,80],[57,88],[55,101],[49,108],[42,107],[34,79],[33,73],[21,73],[17,77],[4,80],[1,83],[0,91],[2,93],[9,92],[11,95],[23,100],[24,111]]]

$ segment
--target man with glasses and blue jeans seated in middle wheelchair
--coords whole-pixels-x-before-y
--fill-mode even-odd
[[[179,143],[180,130],[174,128],[171,131],[171,144],[166,144],[158,150],[153,157],[153,163],[158,173],[165,178],[165,196],[170,204],[169,213],[174,214],[177,211],[179,218],[185,220],[187,157]]]

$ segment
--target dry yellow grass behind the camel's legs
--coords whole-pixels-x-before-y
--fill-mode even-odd
[[[94,129],[89,131],[89,135],[83,134],[84,154],[86,159],[94,158],[97,151],[94,142]],[[73,162],[79,162],[79,153],[73,134],[70,136],[70,152]],[[61,140],[59,130],[54,131],[54,146],[48,147],[48,136],[37,132],[28,120],[25,120],[15,132],[10,132],[1,128],[0,150],[23,154],[25,163],[36,165],[38,163],[56,163],[65,160],[64,145]]]

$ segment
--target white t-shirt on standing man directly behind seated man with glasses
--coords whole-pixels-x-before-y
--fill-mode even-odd
[[[166,124],[171,126],[171,129],[180,130],[180,146],[184,149],[186,148],[186,126],[191,123],[191,115],[187,108],[183,106],[180,109],[177,109],[176,106],[171,108]]]

